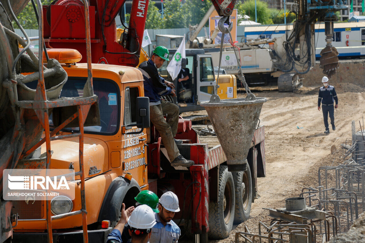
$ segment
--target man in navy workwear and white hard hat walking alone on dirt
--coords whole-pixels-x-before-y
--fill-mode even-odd
[[[328,113],[330,114],[332,130],[336,130],[334,107],[336,109],[338,107],[338,98],[335,87],[328,85],[328,78],[326,76],[322,78],[322,83],[323,86],[319,88],[318,94],[318,111],[320,111],[320,103],[322,101],[323,121],[324,127],[326,128],[324,133],[328,134],[330,133],[330,129],[328,128]],[[335,106],[333,106],[334,102],[336,102]]]

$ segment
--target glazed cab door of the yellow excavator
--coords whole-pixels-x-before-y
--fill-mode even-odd
[[[197,55],[197,104],[210,100],[216,85],[211,55]]]

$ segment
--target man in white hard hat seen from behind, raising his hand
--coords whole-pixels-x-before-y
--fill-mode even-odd
[[[122,210],[122,217],[113,231],[108,235],[107,243],[122,242],[122,239],[120,238],[120,229],[124,227],[126,222],[130,225],[128,231],[131,235],[131,241],[128,241],[128,243],[147,243],[151,237],[151,228],[156,223],[156,220],[152,209],[147,205],[141,205],[133,212],[123,212]]]

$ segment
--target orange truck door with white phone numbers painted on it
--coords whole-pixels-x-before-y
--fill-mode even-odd
[[[122,161],[124,173],[131,173],[139,186],[147,184],[147,148],[145,130],[133,126],[136,120],[136,99],[140,96],[142,86],[132,87],[130,84],[124,88],[123,126],[125,132],[122,136]],[[128,126],[129,125],[129,126]],[[140,132],[139,132],[140,131]],[[137,134],[128,134],[135,133]]]

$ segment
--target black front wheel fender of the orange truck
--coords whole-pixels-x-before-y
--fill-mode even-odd
[[[112,181],[111,185],[109,186],[107,193],[105,194],[103,204],[100,208],[98,221],[117,221],[120,209],[122,208],[122,203],[127,193],[131,194],[128,195],[128,198],[133,196],[129,199],[134,201],[134,197],[137,196],[139,192],[141,192],[141,188],[139,188],[137,181],[133,178],[131,180],[128,180],[124,177],[115,178],[115,180]],[[132,205],[126,205],[126,208],[130,206]]]

